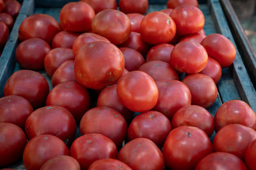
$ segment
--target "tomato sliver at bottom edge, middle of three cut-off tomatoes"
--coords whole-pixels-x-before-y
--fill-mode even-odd
[[[106,158],[93,162],[88,170],[132,170],[127,164],[120,160]]]

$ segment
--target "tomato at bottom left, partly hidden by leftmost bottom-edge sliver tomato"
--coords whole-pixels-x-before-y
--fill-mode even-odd
[[[47,160],[60,155],[69,155],[65,143],[51,134],[41,134],[26,145],[23,163],[28,170],[38,170]]]

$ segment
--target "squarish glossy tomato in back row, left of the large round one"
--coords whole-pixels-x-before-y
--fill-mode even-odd
[[[67,3],[60,11],[60,25],[65,31],[85,32],[92,28],[95,12],[88,3]]]

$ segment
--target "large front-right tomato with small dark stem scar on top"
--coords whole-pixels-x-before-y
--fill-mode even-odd
[[[163,154],[170,169],[195,169],[196,164],[213,152],[210,139],[198,127],[180,126],[164,141]]]

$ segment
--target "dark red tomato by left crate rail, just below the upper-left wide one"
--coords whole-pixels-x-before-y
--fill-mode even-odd
[[[51,46],[40,38],[31,38],[22,41],[16,49],[17,62],[24,69],[44,69],[45,55],[51,50]]]

